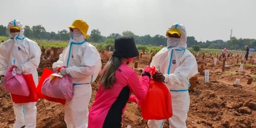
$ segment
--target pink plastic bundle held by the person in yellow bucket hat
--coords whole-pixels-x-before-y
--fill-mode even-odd
[[[55,76],[51,81],[50,77],[51,75],[44,81],[42,93],[52,98],[71,100],[73,97],[73,83],[70,76],[65,75],[62,78]]]

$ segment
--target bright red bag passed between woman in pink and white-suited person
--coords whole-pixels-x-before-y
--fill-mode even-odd
[[[155,67],[147,66],[144,71],[155,73]],[[145,120],[169,119],[173,116],[171,94],[163,82],[149,80],[146,98],[141,101],[141,113]]]

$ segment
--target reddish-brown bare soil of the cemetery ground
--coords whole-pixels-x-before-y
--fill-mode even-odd
[[[54,53],[55,50],[55,53]],[[63,49],[53,48],[41,55],[38,73],[44,68],[52,69],[53,62]],[[112,52],[101,52],[102,64],[105,65]],[[133,64],[138,75],[150,63],[152,54],[135,57]],[[234,54],[223,63],[218,55],[195,54],[199,73],[191,78],[190,110],[188,112],[188,128],[256,128],[256,56],[243,60],[243,56]],[[236,57],[237,56],[237,57]],[[217,58],[216,65],[214,60]],[[237,60],[238,58],[238,60]],[[239,65],[243,60],[243,71]],[[254,64],[253,61],[254,60]],[[238,61],[238,62],[237,62]],[[137,64],[135,64],[137,62]],[[222,66],[224,64],[224,67]],[[134,66],[137,65],[137,68]],[[224,69],[224,70],[223,70]],[[204,83],[204,70],[209,70],[209,82]],[[234,84],[240,79],[239,84]],[[251,84],[247,84],[252,80]],[[99,86],[99,78],[91,84],[91,107]],[[10,95],[0,84],[0,128],[12,128],[15,116]],[[165,121],[163,128],[169,128]],[[123,115],[122,128],[147,128],[147,121],[142,119],[136,103],[128,103]],[[64,106],[40,99],[37,102],[37,128],[66,128],[64,122]]]

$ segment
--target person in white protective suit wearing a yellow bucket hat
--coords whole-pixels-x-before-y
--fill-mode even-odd
[[[91,99],[91,82],[101,71],[101,57],[97,49],[90,43],[87,31],[89,25],[77,19],[70,28],[70,41],[60,54],[59,60],[53,64],[54,71],[59,66],[62,75],[69,74],[73,82],[73,99],[66,101],[64,106],[64,120],[67,128],[87,128],[88,105]]]

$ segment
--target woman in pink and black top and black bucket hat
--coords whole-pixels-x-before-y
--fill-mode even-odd
[[[115,49],[103,69],[101,84],[89,112],[88,128],[121,128],[129,96],[133,92],[138,100],[144,100],[148,91],[150,73],[137,73],[127,64],[139,55],[133,37],[115,39]]]

